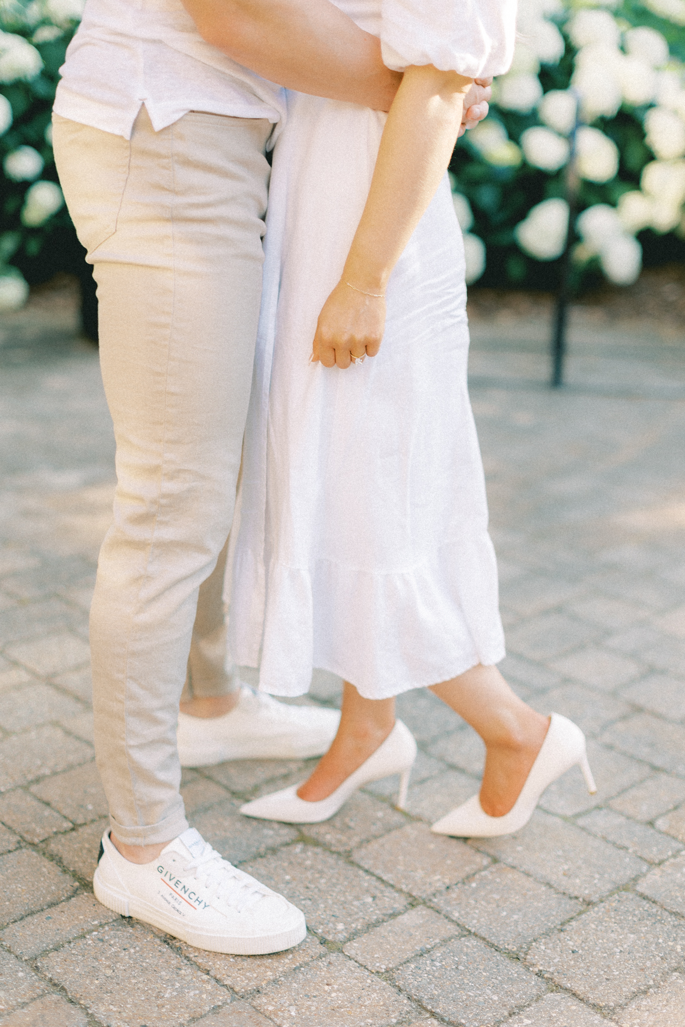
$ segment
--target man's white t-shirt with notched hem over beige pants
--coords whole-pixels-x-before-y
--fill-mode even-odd
[[[156,131],[188,111],[280,121],[283,89],[205,43],[181,0],[86,0],[54,111],[130,139],[145,104]]]

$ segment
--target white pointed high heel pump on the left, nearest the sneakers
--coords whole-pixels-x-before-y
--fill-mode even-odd
[[[416,759],[416,741],[406,724],[395,720],[394,727],[385,741],[381,743],[375,753],[360,767],[346,777],[332,795],[319,802],[307,802],[297,794],[300,785],[292,785],[279,792],[263,795],[252,802],[240,806],[240,812],[245,816],[257,816],[264,821],[282,821],[284,824],[320,824],[338,812],[344,802],[349,799],[357,788],[369,785],[372,781],[399,774],[399,795],[397,808],[404,809],[407,802],[409,775]]]

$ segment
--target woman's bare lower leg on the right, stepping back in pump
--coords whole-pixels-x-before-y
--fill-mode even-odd
[[[496,667],[472,667],[434,692],[486,744],[481,805],[490,816],[508,813],[519,797],[549,726],[549,718],[516,695]]]

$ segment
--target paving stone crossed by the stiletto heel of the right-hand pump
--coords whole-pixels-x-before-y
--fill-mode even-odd
[[[587,739],[587,759],[597,784],[597,793],[589,795],[580,768],[571,767],[544,791],[540,799],[543,809],[563,816],[575,816],[576,813],[606,802],[612,795],[643,779],[650,772],[646,764],[607,749],[594,738]]]

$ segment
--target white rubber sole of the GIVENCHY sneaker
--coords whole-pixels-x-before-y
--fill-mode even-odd
[[[197,949],[205,949],[207,952],[223,952],[234,956],[265,956],[272,952],[282,952],[284,949],[292,949],[295,945],[303,942],[307,934],[307,924],[304,914],[302,922],[291,927],[290,930],[281,930],[275,935],[263,935],[260,938],[228,938],[224,935],[203,935],[196,930],[188,929],[173,917],[166,917],[151,903],[145,902],[135,896],[125,895],[113,888],[110,884],[105,884],[99,874],[100,867],[96,870],[92,878],[92,887],[96,899],[103,906],[111,909],[120,916],[132,916],[137,920],[149,923],[153,927],[166,931],[173,938],[178,938],[182,942],[195,946]]]

